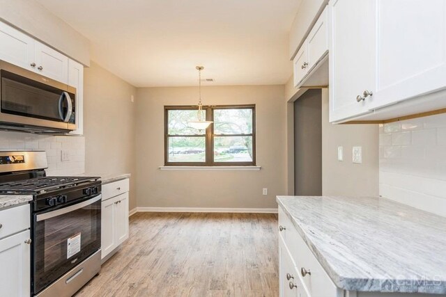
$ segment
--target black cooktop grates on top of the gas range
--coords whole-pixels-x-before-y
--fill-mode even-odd
[[[98,177],[38,177],[0,184],[0,193],[43,193],[60,188],[77,186]]]

